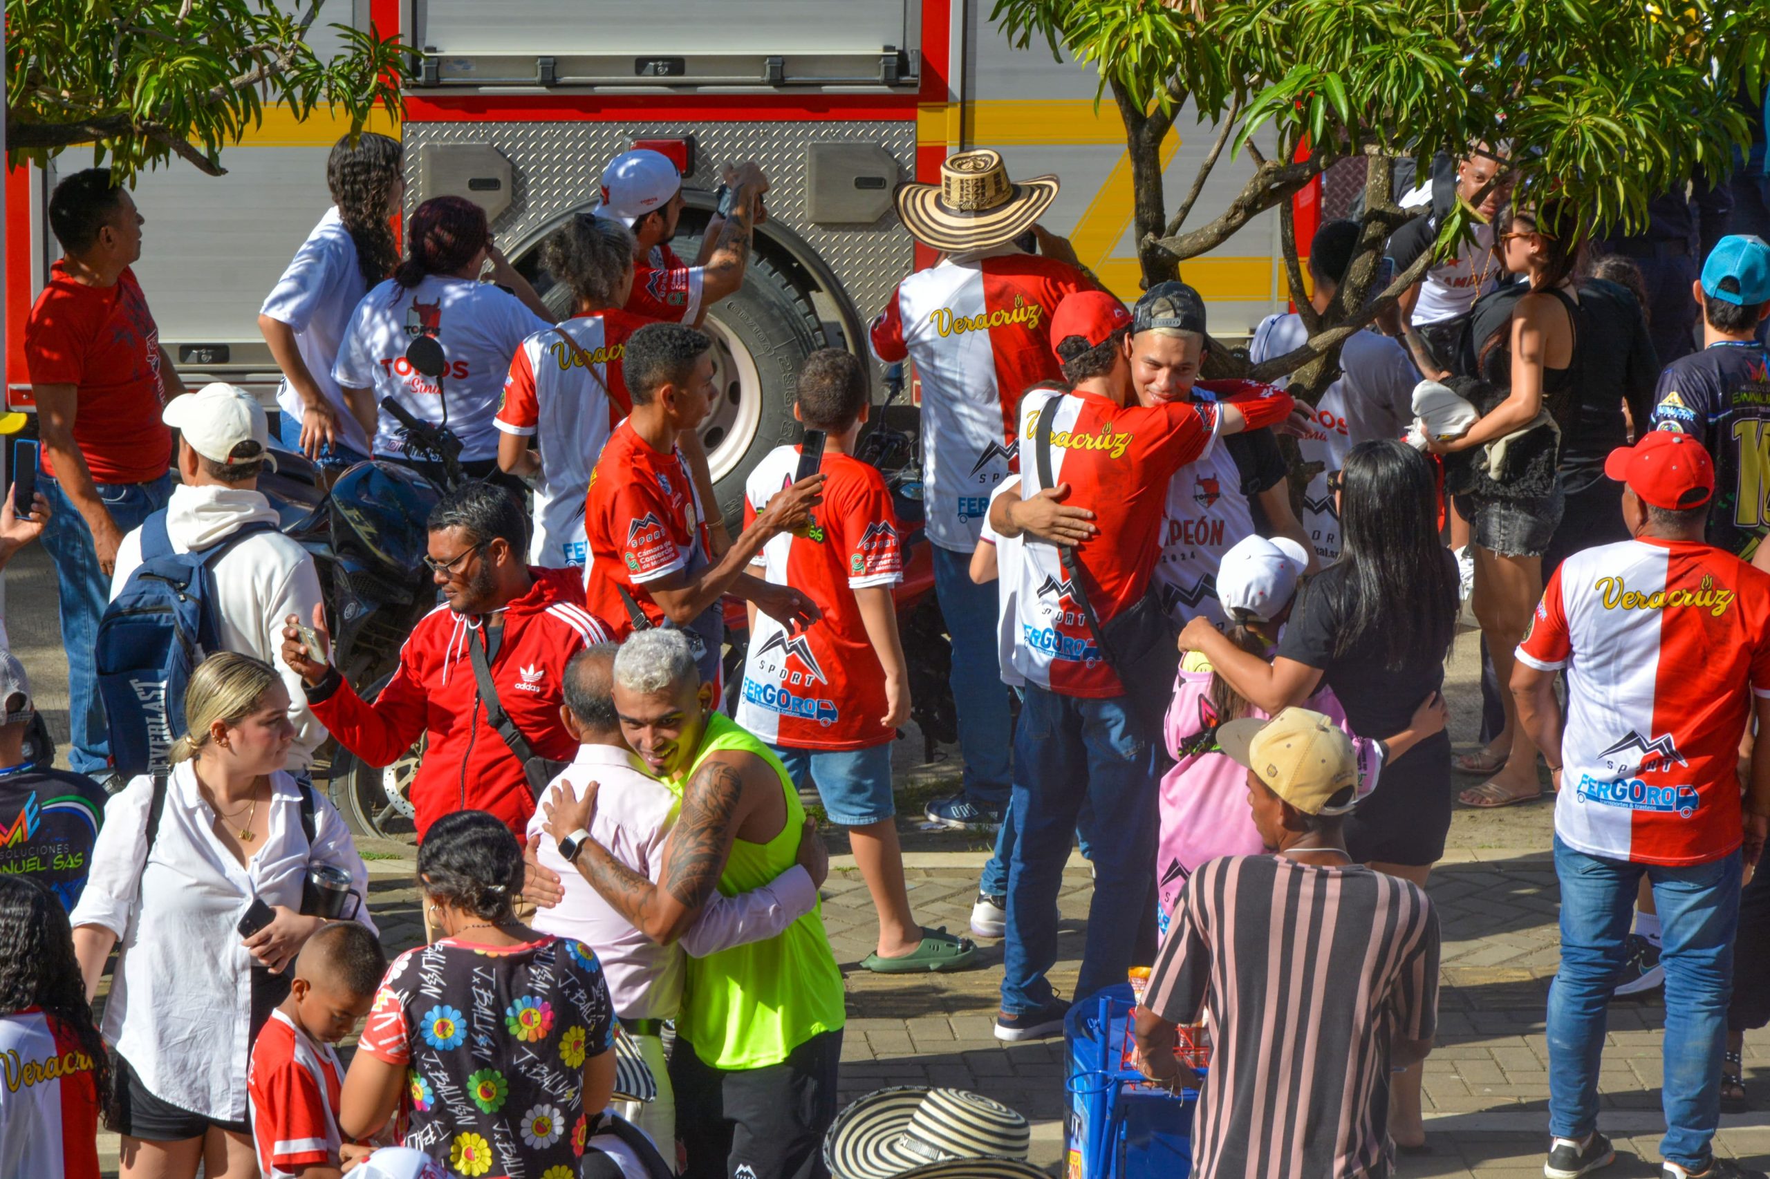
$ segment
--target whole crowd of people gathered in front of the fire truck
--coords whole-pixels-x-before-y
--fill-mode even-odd
[[[340,142],[335,205],[264,303],[283,450],[250,391],[179,381],[131,273],[127,189],[88,170],[50,200],[64,257],[27,328],[41,494],[28,515],[0,505],[0,565],[39,538],[55,563],[71,772],[5,655],[0,823],[28,850],[0,876],[7,1174],[96,1175],[103,1114],[136,1179],[853,1179],[866,1101],[837,1119],[844,982],[807,788],[876,910],[860,968],[963,970],[1000,938],[1002,1041],[1060,1036],[1074,1000],[1147,972],[1136,1052],[1154,1083],[1200,1089],[1197,1174],[1388,1174],[1425,1144],[1425,885],[1455,774],[1487,779],[1464,804],[1496,807],[1536,797],[1543,768],[1563,898],[1545,1174],[1614,1158],[1604,1009],[1650,970],[1666,1175],[1758,1174],[1712,1140],[1743,1099],[1738,1037],[1770,1020],[1761,237],[1705,251],[1683,304],[1703,347],[1660,368],[1644,312],[1676,338],[1680,304],[1644,297],[1627,250],[1604,258],[1625,281],[1591,276],[1581,211],[1512,202],[1476,145],[1404,202],[1428,211],[1389,253],[1430,248],[1453,200],[1481,214],[1474,241],[1347,340],[1306,405],[1202,379],[1237,358],[1186,283],[1106,292],[1039,225],[1055,177],[1014,182],[972,150],[901,186],[938,258],[867,343],[920,381],[915,524],[963,765],[926,818],[995,834],[959,936],[917,921],[897,841],[910,522],[860,457],[867,365],[812,352],[793,412],[821,453],[766,455],[736,535],[713,497],[697,324],[743,281],[766,177],[727,170],[687,264],[676,166],[609,161],[596,211],[542,250],[568,296],[554,322],[469,200],[419,204],[402,248],[400,168],[393,140]],[[1317,230],[1317,310],[1358,241]],[[1250,351],[1306,335],[1274,315]],[[402,414],[460,441],[464,478],[409,451]],[[313,558],[257,489],[290,450],[442,485],[437,605],[373,694],[335,666]],[[1453,758],[1444,666],[1471,595],[1492,706]],[[749,616],[731,692],[726,600]],[[158,697],[140,674],[119,692],[119,618],[140,646],[142,618],[182,636],[166,616],[186,607],[202,650],[154,664]],[[312,781],[327,740],[370,767],[423,751],[425,944],[391,963]],[[1078,841],[1094,887],[1064,998],[1048,975]],[[1200,1021],[1202,1083],[1175,1057]],[[333,1044],[359,1025],[345,1067]],[[958,1135],[894,1174],[966,1151],[1039,1174],[1018,1115],[949,1098],[915,1117],[965,1110],[1007,1145]]]

